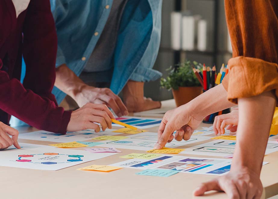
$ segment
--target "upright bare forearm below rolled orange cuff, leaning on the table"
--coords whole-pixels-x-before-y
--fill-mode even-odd
[[[239,98],[239,124],[232,168],[248,167],[260,174],[276,98],[271,91]]]

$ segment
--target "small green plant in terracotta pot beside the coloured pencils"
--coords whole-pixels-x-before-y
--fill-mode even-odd
[[[195,61],[193,61],[193,64],[201,70],[202,64]],[[177,107],[186,104],[201,94],[202,87],[193,73],[190,61],[176,64],[174,67],[170,66],[166,71],[169,71],[168,76],[165,79],[161,78],[160,86],[168,90],[172,89]]]

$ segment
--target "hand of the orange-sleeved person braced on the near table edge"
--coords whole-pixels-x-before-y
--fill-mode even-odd
[[[194,195],[201,196],[206,191],[224,191],[229,198],[260,198],[263,186],[260,175],[247,167],[231,170],[225,176],[202,183]]]

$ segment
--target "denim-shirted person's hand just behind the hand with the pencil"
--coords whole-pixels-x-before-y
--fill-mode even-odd
[[[105,104],[112,108],[118,117],[128,115],[127,107],[123,104],[121,98],[108,88],[86,85],[74,96],[74,100],[79,107],[83,107],[87,103]]]

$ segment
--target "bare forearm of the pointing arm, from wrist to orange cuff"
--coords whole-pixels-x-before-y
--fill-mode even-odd
[[[186,106],[191,107],[194,115],[201,115],[202,117],[206,117],[211,113],[216,113],[234,105],[235,104],[227,100],[227,92],[222,84],[209,89],[186,104]]]

